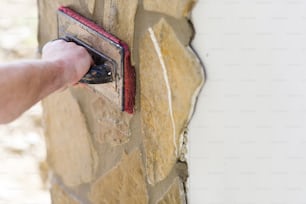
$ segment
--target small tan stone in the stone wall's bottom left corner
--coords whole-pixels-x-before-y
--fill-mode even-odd
[[[69,196],[69,194],[56,184],[51,188],[51,197],[52,204],[81,204],[81,202]]]

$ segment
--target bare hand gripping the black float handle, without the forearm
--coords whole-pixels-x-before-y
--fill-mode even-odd
[[[42,60],[51,62],[60,68],[66,85],[76,84],[93,63],[84,47],[64,40],[48,42],[43,47]]]

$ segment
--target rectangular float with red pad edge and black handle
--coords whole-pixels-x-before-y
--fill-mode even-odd
[[[80,82],[133,113],[136,83],[128,45],[68,7],[60,7],[57,17],[58,37],[85,47],[93,58],[94,65]]]

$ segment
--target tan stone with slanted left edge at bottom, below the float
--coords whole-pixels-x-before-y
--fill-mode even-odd
[[[118,166],[93,184],[89,199],[92,203],[148,203],[140,151],[123,155]]]

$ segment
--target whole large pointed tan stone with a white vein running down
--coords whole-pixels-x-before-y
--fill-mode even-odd
[[[163,19],[141,39],[139,53],[146,169],[155,184],[177,160],[203,72],[196,55]]]

